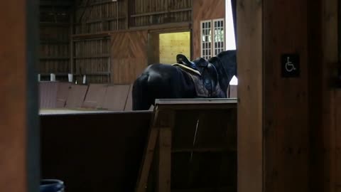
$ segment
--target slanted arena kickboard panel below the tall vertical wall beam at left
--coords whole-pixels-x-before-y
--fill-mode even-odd
[[[66,108],[80,108],[87,94],[87,85],[71,85],[67,95]]]

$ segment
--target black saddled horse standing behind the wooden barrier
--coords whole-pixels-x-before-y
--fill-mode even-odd
[[[179,62],[179,58],[178,63]],[[216,72],[217,85],[222,90],[220,95],[210,95],[208,97],[227,97],[227,87],[234,75],[237,75],[237,59],[235,50],[226,50],[208,61],[197,58],[193,62],[185,61],[190,65],[201,65],[200,63],[211,65]],[[213,66],[212,66],[213,65]],[[195,66],[194,66],[195,68]],[[196,75],[197,76],[197,75]],[[212,81],[214,82],[214,81]],[[156,63],[148,65],[143,73],[135,80],[132,90],[133,110],[148,110],[154,105],[156,99],[179,99],[198,97],[193,75],[188,70],[179,66]]]

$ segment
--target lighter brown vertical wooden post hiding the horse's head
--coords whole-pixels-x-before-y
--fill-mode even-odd
[[[259,1],[237,4],[239,192],[264,190],[262,11]]]

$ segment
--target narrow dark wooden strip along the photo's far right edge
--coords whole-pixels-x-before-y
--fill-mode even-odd
[[[320,166],[323,166],[323,190],[324,191],[337,191],[340,188],[340,173],[338,173],[337,166],[340,165],[338,159],[340,156],[337,154],[337,146],[340,140],[337,140],[337,133],[339,132],[340,124],[337,122],[338,115],[338,100],[339,95],[335,90],[330,89],[330,80],[334,77],[336,68],[332,65],[338,60],[337,53],[337,6],[340,1],[322,1],[323,9],[323,126],[322,139],[323,139],[323,161]],[[340,189],[339,189],[340,190]]]

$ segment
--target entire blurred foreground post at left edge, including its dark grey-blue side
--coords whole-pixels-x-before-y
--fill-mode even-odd
[[[0,191],[38,191],[38,1],[0,2]]]

